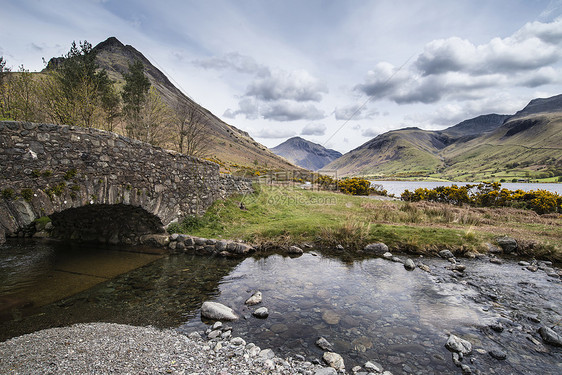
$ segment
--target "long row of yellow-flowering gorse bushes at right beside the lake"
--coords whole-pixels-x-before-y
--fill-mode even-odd
[[[439,186],[435,189],[418,188],[402,193],[409,202],[421,200],[455,205],[470,204],[479,207],[517,207],[531,209],[538,214],[562,213],[562,196],[547,190],[502,189],[499,182],[484,182],[478,185]]]

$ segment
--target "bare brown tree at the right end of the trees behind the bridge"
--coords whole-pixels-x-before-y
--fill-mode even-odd
[[[175,107],[175,124],[179,151],[191,156],[207,156],[210,143],[205,134],[203,112],[195,104],[178,99]]]

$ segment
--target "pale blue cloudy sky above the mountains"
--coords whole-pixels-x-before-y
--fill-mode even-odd
[[[0,0],[0,56],[110,36],[267,147],[342,153],[562,94],[562,0]]]

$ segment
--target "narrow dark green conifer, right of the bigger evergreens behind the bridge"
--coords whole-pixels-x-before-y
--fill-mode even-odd
[[[144,65],[141,61],[136,60],[133,64],[129,64],[129,72],[123,75],[125,86],[121,96],[123,98],[123,112],[127,121],[127,135],[133,137],[138,133],[141,127],[141,109],[143,108],[148,90],[150,89],[150,81],[144,75]]]

